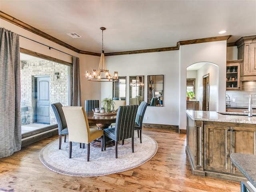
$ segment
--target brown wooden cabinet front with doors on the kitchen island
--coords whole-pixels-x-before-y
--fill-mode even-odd
[[[230,154],[255,154],[256,129],[229,124],[223,126],[223,123],[210,124],[212,122],[205,125],[205,170],[242,175],[231,162]]]

